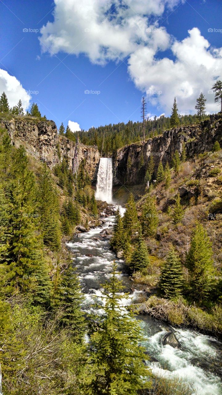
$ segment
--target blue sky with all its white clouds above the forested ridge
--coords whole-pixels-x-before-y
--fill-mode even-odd
[[[7,72],[0,93],[9,104],[21,97],[27,107],[30,99],[58,127],[71,120],[85,130],[139,120],[143,95],[150,117],[169,115],[174,96],[181,113],[194,111],[201,91],[216,112],[210,88],[222,79],[222,2],[108,3],[0,1],[0,69]]]

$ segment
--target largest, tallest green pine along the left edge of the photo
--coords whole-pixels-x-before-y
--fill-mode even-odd
[[[41,238],[36,235],[36,184],[27,164],[23,147],[13,152],[11,178],[5,186],[7,243],[0,254],[0,263],[4,266],[6,295],[19,290],[36,303],[45,303],[49,299],[50,280]]]

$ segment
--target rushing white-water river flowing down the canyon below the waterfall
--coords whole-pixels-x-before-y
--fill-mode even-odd
[[[85,294],[83,310],[92,310],[95,301],[101,304],[98,310],[103,314],[101,284],[109,279],[115,254],[109,249],[109,237],[101,237],[100,232],[113,226],[114,216],[104,218],[105,224],[90,229],[87,233],[67,243],[73,254],[73,265],[77,268]],[[91,256],[87,256],[91,255]],[[120,295],[122,305],[134,303],[142,291],[132,291],[132,281],[126,273],[124,262],[117,260],[125,292],[130,292],[130,299]],[[135,286],[134,286],[135,287]],[[121,297],[122,296],[122,297]],[[144,342],[151,359],[149,365],[158,375],[185,378],[194,384],[197,395],[222,394],[222,343],[213,337],[201,335],[188,329],[172,328],[149,316],[138,316],[144,333]],[[181,343],[181,348],[173,348],[162,344],[167,331],[174,331]]]

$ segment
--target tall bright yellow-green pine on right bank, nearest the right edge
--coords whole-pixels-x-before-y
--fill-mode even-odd
[[[207,231],[201,224],[193,231],[186,264],[189,271],[190,296],[197,301],[208,299],[214,274],[213,251]]]

